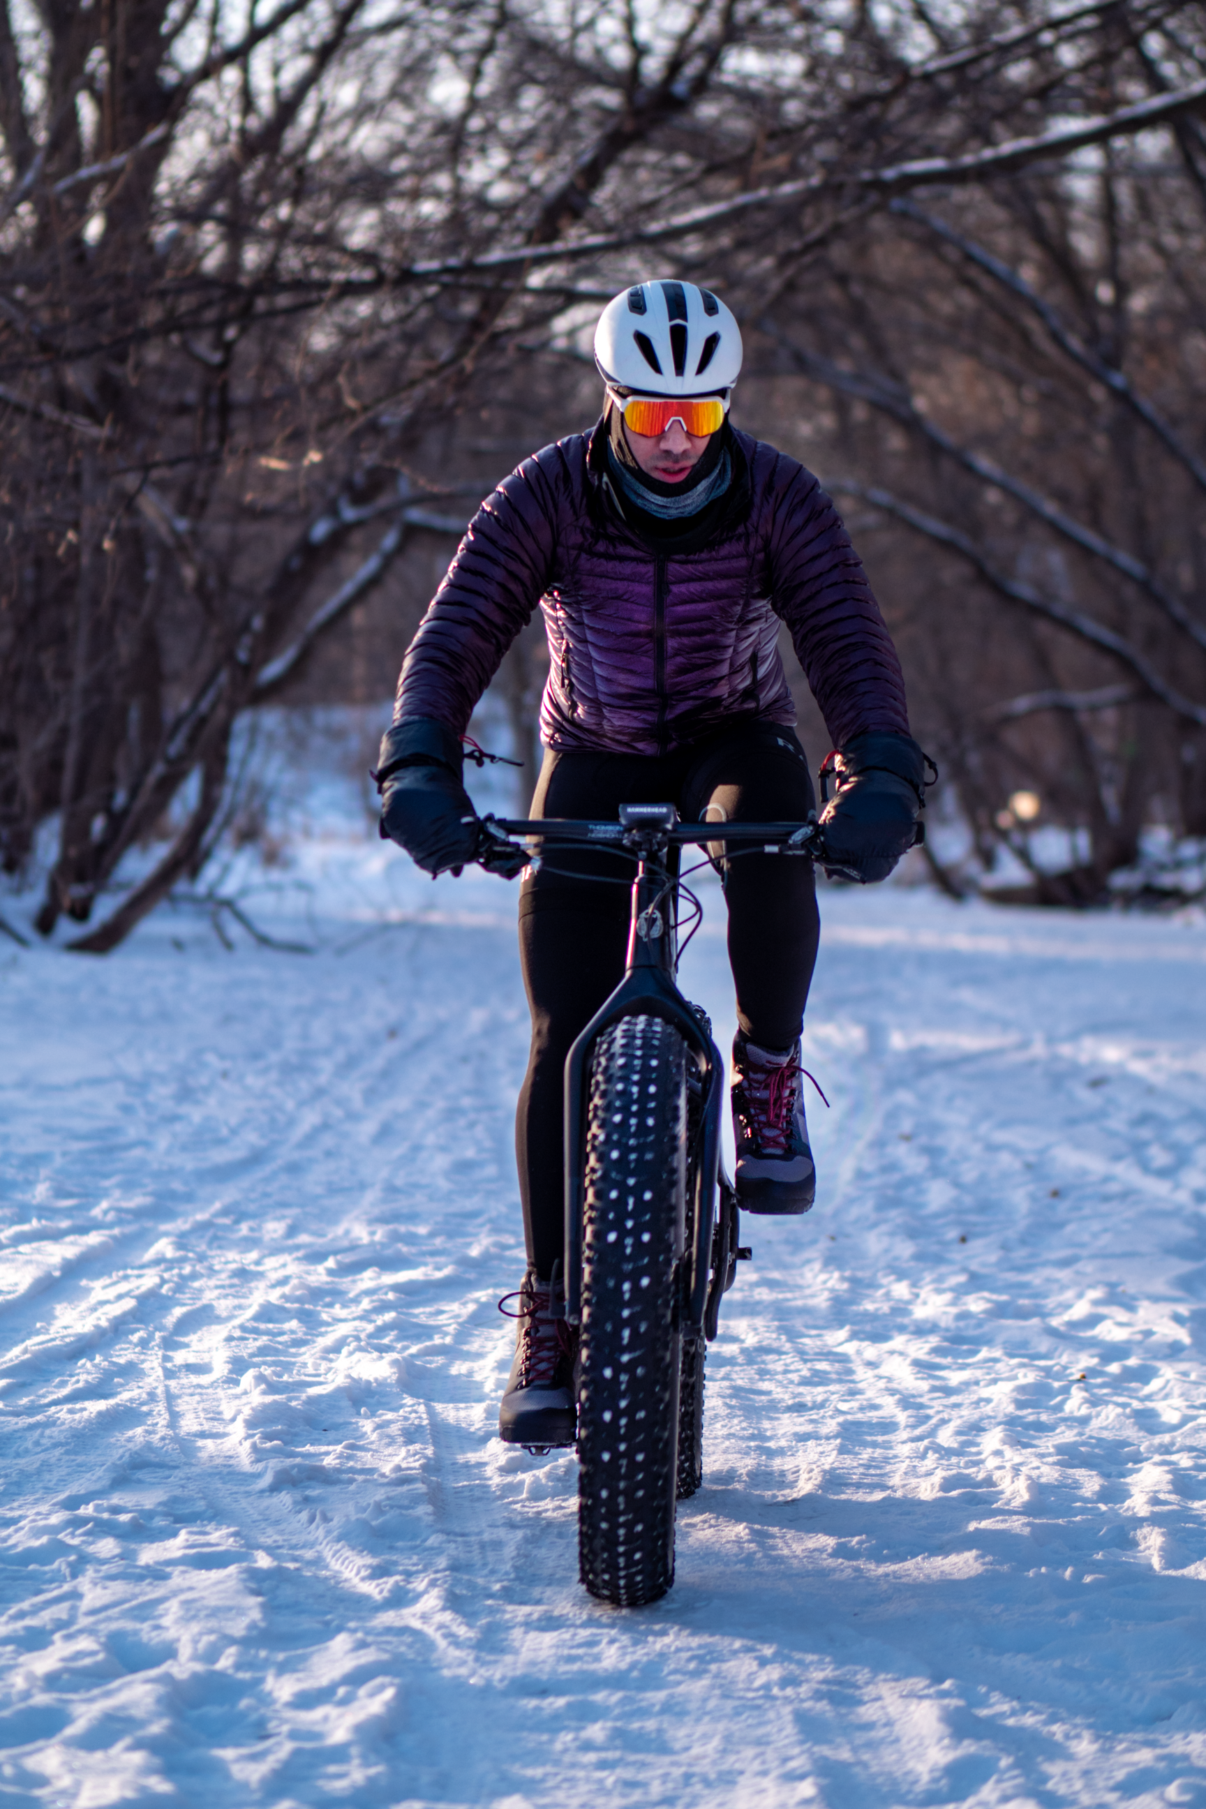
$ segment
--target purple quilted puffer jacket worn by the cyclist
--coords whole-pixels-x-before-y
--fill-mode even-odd
[[[548,747],[660,754],[736,716],[792,725],[787,622],[834,747],[909,733],[895,648],[837,510],[812,472],[732,432],[734,479],[698,552],[627,526],[606,427],[544,447],[468,525],[398,680],[394,720],[461,734],[508,646],[544,611]]]

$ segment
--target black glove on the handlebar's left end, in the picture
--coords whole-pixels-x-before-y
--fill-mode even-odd
[[[416,716],[382,736],[372,778],[382,794],[382,839],[401,843],[429,874],[459,872],[477,854],[477,812],[461,783],[461,736]]]

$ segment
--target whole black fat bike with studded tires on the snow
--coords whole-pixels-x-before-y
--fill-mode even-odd
[[[566,1058],[579,1568],[591,1596],[635,1608],[674,1581],[676,1501],[703,1476],[703,1355],[750,1257],[720,1160],[725,1062],[676,984],[683,897],[702,917],[678,850],[707,847],[720,863],[823,848],[815,821],[680,823],[673,805],[633,803],[617,823],[486,816],[479,859],[584,845],[627,854],[635,872],[624,979]]]

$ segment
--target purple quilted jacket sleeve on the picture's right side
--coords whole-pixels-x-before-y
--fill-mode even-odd
[[[862,561],[812,472],[779,459],[770,595],[834,747],[864,729],[909,733],[904,675]],[[783,469],[785,467],[785,469]]]

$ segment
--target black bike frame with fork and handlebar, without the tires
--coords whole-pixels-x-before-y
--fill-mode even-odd
[[[591,1051],[602,1031],[624,1017],[660,1017],[673,1024],[691,1049],[700,1082],[700,1145],[689,1169],[694,1185],[694,1225],[687,1284],[683,1288],[683,1331],[693,1337],[716,1337],[720,1297],[732,1283],[736,1266],[736,1207],[732,1223],[721,1239],[718,1261],[712,1266],[712,1234],[716,1228],[716,1189],[720,1172],[720,1125],[723,1105],[725,1060],[711,1035],[678,991],[678,937],[676,914],[667,908],[676,894],[676,876],[671,874],[667,852],[671,847],[703,847],[709,843],[761,845],[767,854],[794,854],[812,857],[815,823],[680,823],[673,805],[620,805],[618,823],[588,823],[577,819],[483,819],[488,838],[539,838],[577,847],[615,847],[636,857],[631,890],[631,919],[624,979],[604,1000],[566,1056],[564,1080],[564,1178],[566,1178],[566,1319],[579,1324],[582,1317],[582,1183],[586,1172],[586,1096],[589,1085]],[[732,1192],[732,1183],[723,1183]],[[711,1286],[709,1286],[711,1283]]]

